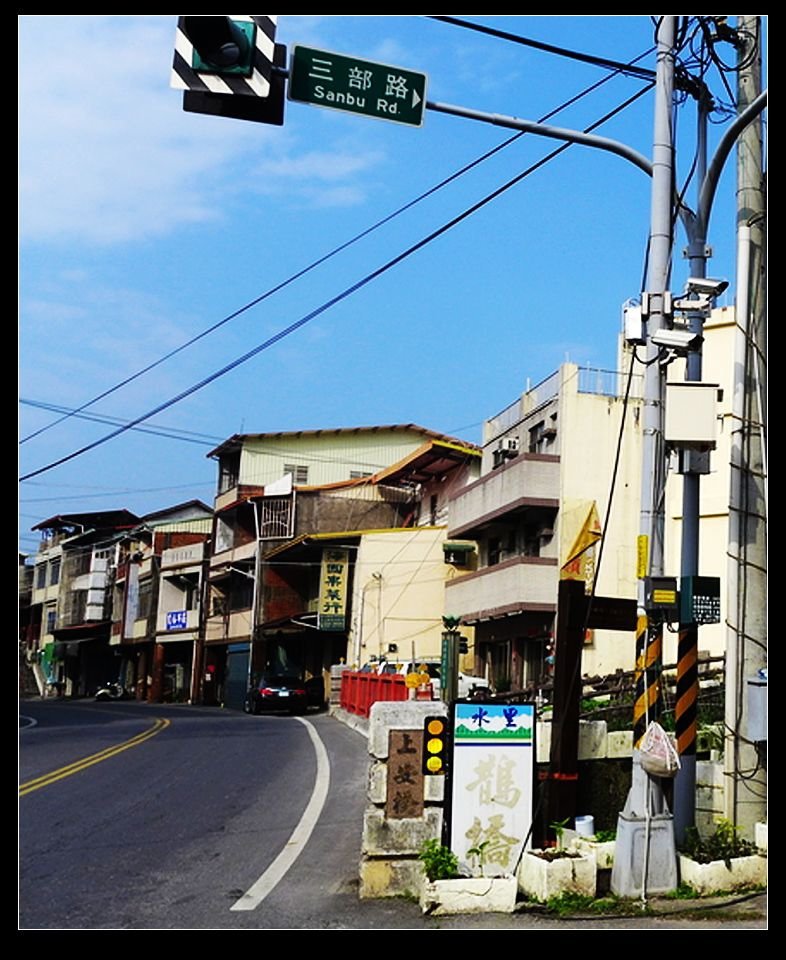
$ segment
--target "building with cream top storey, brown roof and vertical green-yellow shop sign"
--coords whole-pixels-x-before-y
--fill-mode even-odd
[[[362,601],[354,570],[364,539],[365,555],[372,533],[422,528],[409,535],[419,545],[444,538],[444,529],[426,532],[444,516],[451,484],[442,478],[471,469],[478,451],[403,424],[246,434],[210,456],[218,460],[219,492],[203,698],[238,706],[265,669],[324,681],[331,665],[351,659],[353,616],[364,631],[354,606]],[[382,542],[401,553],[393,539]],[[432,626],[442,613],[441,589],[439,606],[428,612]]]

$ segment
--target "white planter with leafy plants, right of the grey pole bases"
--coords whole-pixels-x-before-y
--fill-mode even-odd
[[[720,819],[709,837],[695,827],[685,831],[679,851],[680,881],[699,894],[726,893],[767,882],[767,858],[739,828]]]

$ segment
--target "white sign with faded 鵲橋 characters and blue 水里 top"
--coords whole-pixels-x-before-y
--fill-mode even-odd
[[[535,707],[453,707],[450,846],[475,873],[512,874],[532,824]]]

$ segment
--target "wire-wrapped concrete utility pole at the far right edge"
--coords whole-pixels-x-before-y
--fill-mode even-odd
[[[761,18],[740,16],[738,111],[760,96]],[[738,266],[729,498],[725,816],[752,838],[766,820],[767,321],[762,123],[737,150]],[[761,683],[764,672],[764,681]],[[755,682],[752,682],[755,681]],[[763,697],[761,703],[752,704]]]

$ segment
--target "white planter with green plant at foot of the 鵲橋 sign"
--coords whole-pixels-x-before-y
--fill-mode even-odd
[[[482,873],[482,847],[476,849],[475,856]],[[518,891],[515,877],[462,876],[456,854],[434,838],[423,843],[419,859],[424,873],[420,891],[424,913],[513,912]]]

